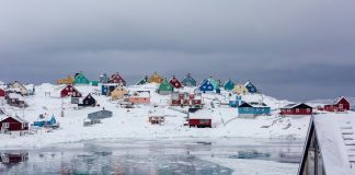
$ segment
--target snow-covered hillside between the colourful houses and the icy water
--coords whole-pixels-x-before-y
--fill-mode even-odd
[[[70,104],[70,98],[60,98],[59,94],[64,86],[42,84],[36,86],[34,96],[25,97],[28,107],[20,109],[2,106],[10,115],[23,116],[30,124],[38,119],[41,114],[56,116],[60,122],[58,130],[46,132],[39,130],[34,135],[24,137],[0,135],[0,148],[16,147],[41,147],[59,142],[76,142],[92,139],[111,138],[135,138],[135,139],[188,139],[188,138],[220,138],[220,137],[248,137],[248,138],[280,138],[280,139],[304,139],[308,130],[310,117],[282,118],[277,115],[280,106],[288,104],[287,101],[278,101],[264,94],[243,96],[245,102],[260,102],[272,107],[271,116],[260,116],[255,119],[239,118],[236,108],[226,103],[229,101],[229,93],[203,94],[204,110],[213,114],[213,128],[188,128],[184,126],[186,114],[182,110],[187,108],[171,107],[170,95],[156,93],[157,84],[145,84],[128,86],[130,91],[150,91],[150,105],[136,105],[135,108],[122,108],[117,101],[99,95],[100,86],[76,86],[84,96],[93,94],[100,107],[87,107],[78,109],[77,105]],[[192,92],[193,89],[182,91]],[[50,93],[50,96],[48,95]],[[96,95],[95,95],[96,94]],[[65,108],[65,117],[60,117],[61,106]],[[83,121],[89,113],[102,108],[113,112],[113,117],[103,119],[102,124],[84,127]],[[163,125],[151,125],[148,122],[150,113],[161,113],[167,116]],[[3,117],[3,116],[2,116]]]

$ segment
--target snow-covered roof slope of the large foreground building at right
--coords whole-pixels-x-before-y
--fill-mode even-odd
[[[355,140],[343,139],[343,137],[355,139],[354,114],[316,115],[313,125],[327,175],[354,174],[350,161],[355,161],[354,151],[351,150],[355,145]],[[345,137],[345,132],[352,135]]]

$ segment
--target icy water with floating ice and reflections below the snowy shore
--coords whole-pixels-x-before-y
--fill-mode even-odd
[[[298,163],[301,149],[302,141],[240,138],[83,141],[41,149],[0,150],[0,174],[229,175],[234,172],[233,167],[203,158],[233,161],[241,160],[238,154],[243,153],[248,161]]]

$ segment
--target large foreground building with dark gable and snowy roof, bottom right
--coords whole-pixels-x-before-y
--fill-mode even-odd
[[[298,175],[354,175],[354,116],[312,116]]]

